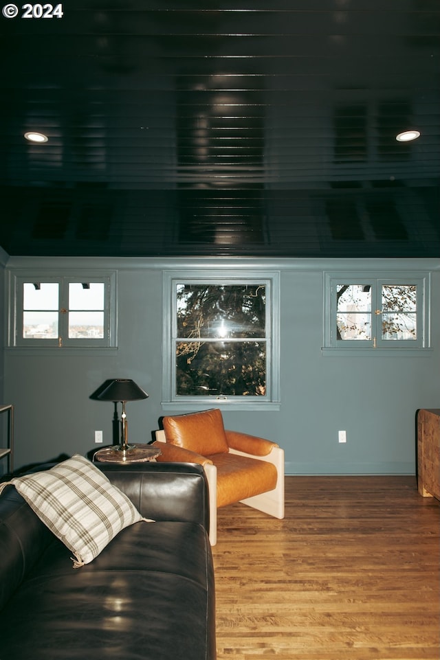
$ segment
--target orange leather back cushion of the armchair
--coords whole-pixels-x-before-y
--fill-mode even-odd
[[[219,408],[163,418],[166,442],[202,456],[228,453],[225,427]]]

